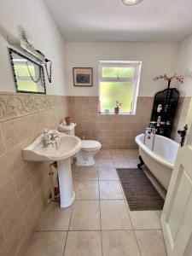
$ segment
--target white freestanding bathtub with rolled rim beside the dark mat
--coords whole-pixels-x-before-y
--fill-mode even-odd
[[[148,170],[152,172],[154,177],[167,190],[172,177],[172,169],[177,157],[179,144],[160,135],[154,136],[154,143],[151,149],[144,142],[145,134],[140,134],[136,137],[139,154],[142,156]]]

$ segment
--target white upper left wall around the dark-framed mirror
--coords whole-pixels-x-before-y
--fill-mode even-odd
[[[18,37],[17,26],[23,26],[32,38],[32,44],[53,62],[52,84],[46,80],[49,95],[66,95],[64,42],[42,0],[1,0],[0,33]],[[7,47],[0,37],[0,91],[15,91]],[[46,77],[46,75],[45,75]]]

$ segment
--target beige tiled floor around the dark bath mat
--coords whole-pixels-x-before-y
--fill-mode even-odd
[[[115,170],[137,154],[103,149],[94,167],[73,166],[73,206],[49,204],[26,256],[166,256],[160,211],[130,212]]]

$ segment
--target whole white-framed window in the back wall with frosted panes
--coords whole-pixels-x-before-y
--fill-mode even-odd
[[[114,113],[121,102],[120,113],[136,113],[141,61],[99,61],[101,113]]]

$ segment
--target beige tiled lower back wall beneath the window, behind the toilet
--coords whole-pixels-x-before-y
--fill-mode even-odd
[[[96,139],[102,148],[137,148],[135,137],[148,125],[153,102],[153,97],[138,97],[136,115],[105,115],[98,113],[96,96],[68,97],[69,113],[77,123],[77,136]]]

